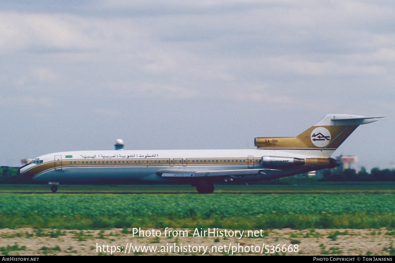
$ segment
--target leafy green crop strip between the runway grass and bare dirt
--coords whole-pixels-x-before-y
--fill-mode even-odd
[[[393,194],[0,194],[0,227],[395,227]]]

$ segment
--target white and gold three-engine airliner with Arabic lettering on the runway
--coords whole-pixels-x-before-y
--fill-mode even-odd
[[[256,137],[256,149],[56,152],[35,158],[18,173],[47,181],[52,192],[60,183],[124,180],[190,183],[199,193],[212,193],[215,182],[271,180],[337,167],[331,154],[359,125],[379,118],[325,115],[296,137]]]

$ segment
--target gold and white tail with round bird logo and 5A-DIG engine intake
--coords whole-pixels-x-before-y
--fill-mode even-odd
[[[329,114],[296,137],[257,137],[255,146],[258,149],[292,150],[299,154],[329,157],[359,125],[379,118],[383,117]]]

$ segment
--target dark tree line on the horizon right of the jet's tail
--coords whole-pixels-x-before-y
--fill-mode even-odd
[[[359,181],[359,182],[374,182],[374,181],[395,181],[395,170],[373,168],[368,173],[365,167],[361,168],[358,173],[354,169],[346,169],[340,171],[337,169],[325,169],[322,172],[322,178],[318,181]]]

